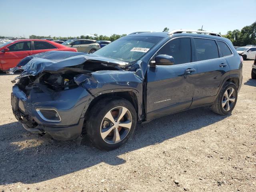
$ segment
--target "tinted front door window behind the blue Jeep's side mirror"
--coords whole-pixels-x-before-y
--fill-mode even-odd
[[[164,45],[157,55],[170,55],[174,58],[174,64],[191,62],[190,38],[177,38]]]

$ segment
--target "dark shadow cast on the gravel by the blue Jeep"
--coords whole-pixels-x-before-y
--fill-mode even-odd
[[[24,130],[19,122],[0,126],[0,184],[42,182],[106,163],[126,163],[118,156],[146,146],[198,130],[223,120],[208,107],[196,108],[152,120],[136,127],[124,146],[101,151],[88,142],[77,146],[75,141],[58,142]]]

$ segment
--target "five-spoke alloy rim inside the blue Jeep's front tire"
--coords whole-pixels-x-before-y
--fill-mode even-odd
[[[109,110],[104,116],[100,135],[108,144],[116,144],[122,141],[132,127],[132,115],[130,111],[122,106]]]

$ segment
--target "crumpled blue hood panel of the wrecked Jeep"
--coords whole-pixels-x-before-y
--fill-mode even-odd
[[[17,78],[29,75],[35,76],[43,71],[58,71],[65,67],[77,66],[85,63],[87,60],[102,62],[103,66],[119,67],[120,69],[124,69],[129,65],[128,62],[122,62],[103,56],[98,56],[96,54],[69,51],[48,51],[27,56],[20,61],[13,71],[22,66],[23,72]]]

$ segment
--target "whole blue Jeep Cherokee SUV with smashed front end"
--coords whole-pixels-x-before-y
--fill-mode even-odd
[[[86,133],[104,150],[160,116],[200,106],[230,114],[242,84],[230,40],[205,31],[135,32],[94,54],[50,51],[18,65],[11,104],[26,130],[56,140]]]

